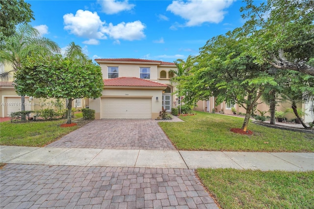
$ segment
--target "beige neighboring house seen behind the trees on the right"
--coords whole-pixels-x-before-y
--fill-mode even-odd
[[[226,103],[223,102],[221,104],[215,105],[215,98],[214,97],[209,97],[209,99],[207,101],[199,101],[197,103],[197,106],[194,107],[194,110],[198,110],[198,111],[204,111],[204,112],[211,112],[212,109],[215,109],[215,112],[219,113],[221,111],[224,112],[224,114],[233,114],[231,108],[235,107],[236,112],[237,113],[245,113],[245,109],[243,107],[241,107],[238,104],[230,104],[230,103]],[[289,103],[278,103],[277,104],[277,111],[285,111],[286,109],[291,108],[291,104]],[[314,115],[313,113],[310,111],[311,109],[311,105],[307,104],[307,103],[303,103],[303,104],[299,104],[298,108],[302,108],[302,110],[306,112],[306,115],[302,118],[304,118],[304,122],[305,123],[310,123],[313,122],[314,120]],[[258,105],[257,108],[260,111],[268,111],[269,110],[269,106],[265,103],[262,103],[261,100],[258,100]],[[257,110],[255,112],[258,115],[261,115]],[[269,112],[267,112],[265,114],[265,116],[269,116]],[[293,113],[288,113],[285,116],[288,120],[294,119],[295,115]]]

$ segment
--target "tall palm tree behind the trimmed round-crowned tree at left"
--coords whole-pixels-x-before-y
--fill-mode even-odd
[[[52,40],[41,37],[40,32],[28,24],[20,25],[15,34],[4,40],[0,51],[0,62],[12,65],[13,70],[0,74],[1,80],[18,71],[22,60],[32,52],[55,53],[60,52],[58,45]],[[21,110],[25,110],[25,95],[21,96]],[[22,118],[25,120],[25,118]]]

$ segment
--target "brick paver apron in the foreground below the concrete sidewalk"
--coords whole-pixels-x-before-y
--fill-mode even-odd
[[[3,209],[217,209],[190,169],[7,164]]]

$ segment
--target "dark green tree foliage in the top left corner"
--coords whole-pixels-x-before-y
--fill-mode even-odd
[[[30,4],[24,0],[0,1],[0,41],[15,33],[15,26],[35,20]]]

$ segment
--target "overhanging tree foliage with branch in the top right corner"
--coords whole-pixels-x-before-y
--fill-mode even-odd
[[[257,63],[314,76],[314,0],[245,0],[248,21],[239,37],[250,36],[248,50]]]

